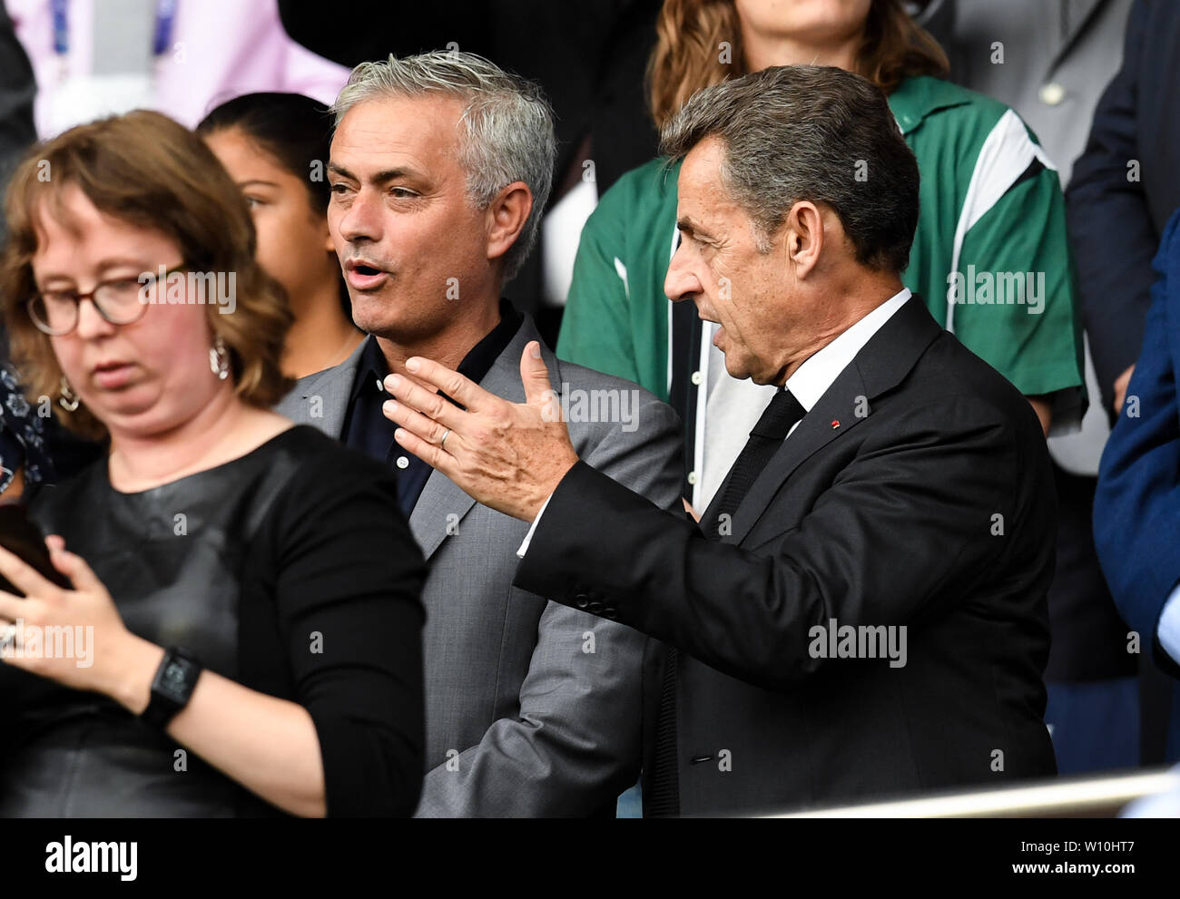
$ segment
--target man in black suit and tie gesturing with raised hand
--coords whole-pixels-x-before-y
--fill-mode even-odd
[[[1055,498],[1036,415],[903,288],[918,169],[838,68],[695,94],[673,301],[782,385],[699,525],[579,461],[527,347],[507,403],[428,360],[399,442],[533,521],[516,583],[674,647],[648,814],[769,812],[1055,773]],[[414,366],[414,367],[412,367]]]

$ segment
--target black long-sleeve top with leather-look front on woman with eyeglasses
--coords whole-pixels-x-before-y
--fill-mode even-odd
[[[105,460],[37,497],[127,628],[303,706],[333,816],[408,815],[422,770],[425,563],[393,475],[293,427],[215,468],[138,492]],[[111,700],[0,667],[0,815],[274,814]]]

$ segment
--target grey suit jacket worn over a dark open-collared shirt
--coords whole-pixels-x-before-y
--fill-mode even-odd
[[[368,337],[367,340],[373,340]],[[525,319],[481,386],[524,401]],[[365,343],[300,380],[276,411],[340,438]],[[676,414],[630,381],[559,361],[542,343],[578,455],[664,508],[680,505]],[[599,393],[602,392],[602,393]],[[620,421],[584,421],[591,401]],[[625,401],[625,406],[622,405]],[[630,628],[512,585],[529,525],[477,505],[432,472],[409,519],[430,559],[424,588],[426,780],[420,816],[612,814],[641,760],[644,670],[658,647]],[[648,700],[651,696],[649,694]],[[650,718],[648,724],[650,726]]]

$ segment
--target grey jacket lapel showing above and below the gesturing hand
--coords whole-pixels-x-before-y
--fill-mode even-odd
[[[527,315],[517,329],[509,346],[497,356],[479,382],[489,393],[494,393],[509,402],[524,402],[524,385],[520,383],[520,354],[530,340],[540,341],[540,355],[549,369],[549,381],[555,391],[560,391],[560,370],[557,357],[549,352],[540,334]],[[440,471],[432,471],[422,487],[422,493],[409,516],[409,530],[428,559],[442,544],[444,538],[455,533],[459,521],[474,507],[476,500],[455,486]]]

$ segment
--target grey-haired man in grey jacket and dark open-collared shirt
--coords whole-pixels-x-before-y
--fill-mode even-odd
[[[393,466],[431,560],[418,814],[612,814],[638,774],[657,644],[514,588],[527,526],[402,450],[384,414],[386,388],[411,376],[415,355],[524,399],[522,354],[539,335],[499,297],[549,193],[549,105],[480,57],[435,52],[358,66],[334,111],[328,224],[353,317],[369,336],[342,365],[302,379],[278,411]],[[579,453],[677,507],[675,413],[634,383],[540,352]]]

